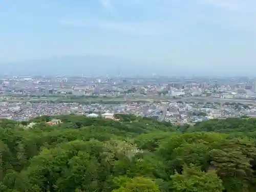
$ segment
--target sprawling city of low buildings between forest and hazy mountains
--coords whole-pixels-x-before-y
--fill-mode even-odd
[[[173,124],[256,117],[253,78],[4,75],[0,83],[0,118],[17,121],[119,113]]]

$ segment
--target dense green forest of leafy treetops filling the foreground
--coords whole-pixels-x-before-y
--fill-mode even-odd
[[[116,119],[1,119],[0,191],[256,191],[256,119]]]

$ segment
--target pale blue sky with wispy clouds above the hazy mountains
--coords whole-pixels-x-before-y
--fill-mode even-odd
[[[255,0],[0,0],[0,63],[107,55],[256,71]]]

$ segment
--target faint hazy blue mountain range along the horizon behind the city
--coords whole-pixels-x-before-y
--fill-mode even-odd
[[[168,63],[168,61],[166,61]],[[55,56],[45,59],[24,60],[20,62],[0,63],[0,74],[24,75],[117,75],[122,76],[248,76],[247,68],[228,71],[214,66],[181,65],[172,63],[143,63],[114,56]],[[226,70],[227,70],[226,69]]]

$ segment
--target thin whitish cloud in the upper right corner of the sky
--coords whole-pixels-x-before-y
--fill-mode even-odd
[[[188,19],[190,22],[200,19],[233,30],[256,32],[256,0],[162,0],[162,5],[166,17],[183,18],[185,23]]]

